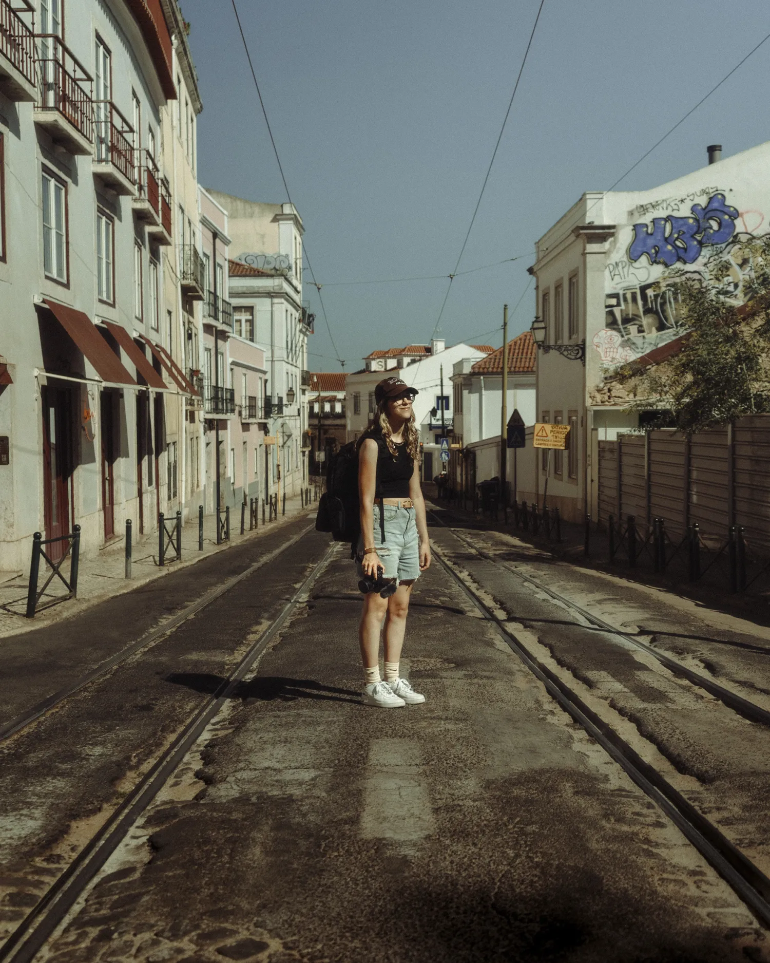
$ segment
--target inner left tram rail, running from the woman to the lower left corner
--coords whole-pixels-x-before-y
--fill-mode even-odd
[[[218,586],[214,592],[206,596],[209,602],[214,601],[222,595],[228,587],[236,585],[248,575],[265,564],[270,558],[274,558],[290,545],[295,544],[303,535],[307,534],[308,529],[295,535],[286,545],[275,552],[269,553],[258,563],[250,566],[245,572],[229,580],[224,586]],[[64,922],[67,915],[89,889],[91,881],[97,873],[104,867],[110,856],[120,846],[126,838],[131,827],[141,818],[156,795],[166,785],[168,779],[192,750],[195,742],[205,732],[206,728],[218,716],[227,700],[232,697],[237,688],[244,682],[250,670],[265,651],[269,642],[275,638],[282,627],[286,624],[295,610],[302,603],[303,597],[314,585],[317,579],[326,569],[329,561],[333,558],[337,549],[336,544],[332,544],[325,551],[321,560],[313,565],[312,570],[295,589],[291,598],[286,602],[280,612],[269,622],[269,625],[260,633],[244,653],[241,661],[224,678],[218,689],[214,691],[207,701],[194,713],[185,725],[176,733],[167,748],[157,757],[152,765],[134,788],[124,797],[110,817],[101,827],[91,836],[89,842],[83,846],[64,872],[53,882],[49,889],[39,899],[38,903],[30,910],[24,919],[15,927],[11,936],[5,944],[0,947],[0,961],[10,961],[10,963],[28,963],[35,959],[57,928]],[[225,587],[226,586],[226,587]],[[200,600],[203,603],[204,600]],[[195,611],[199,611],[203,605],[199,605]],[[189,607],[192,608],[192,607]],[[185,610],[188,612],[188,610]],[[188,612],[189,617],[193,612]],[[179,623],[184,621],[179,613],[175,618],[179,618]],[[163,627],[164,633],[168,631],[168,623]],[[134,650],[136,651],[136,649]],[[129,653],[130,654],[130,653]],[[106,671],[106,669],[105,669]],[[85,685],[85,683],[84,683]],[[81,687],[82,688],[82,687]]]

